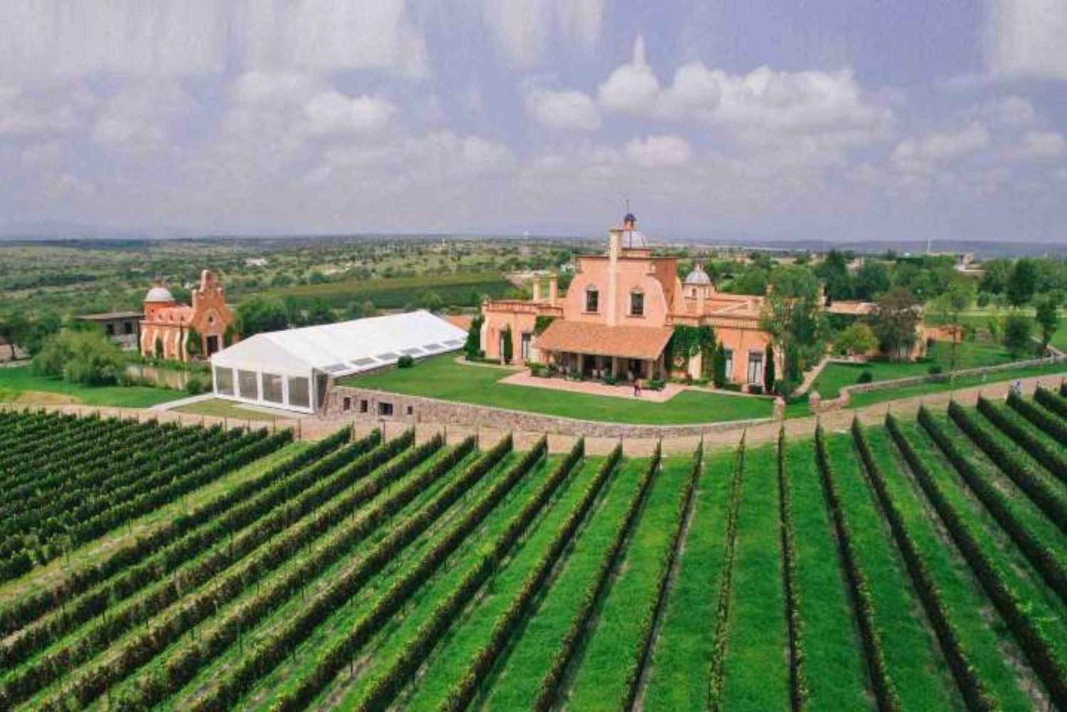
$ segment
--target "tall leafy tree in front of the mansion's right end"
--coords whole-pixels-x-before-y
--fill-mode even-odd
[[[826,321],[819,303],[818,280],[811,270],[796,265],[776,267],[760,314],[760,328],[783,354],[789,393],[810,360],[823,353]]]

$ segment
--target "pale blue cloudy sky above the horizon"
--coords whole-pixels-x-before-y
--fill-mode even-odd
[[[1067,0],[3,0],[0,232],[1067,242]]]

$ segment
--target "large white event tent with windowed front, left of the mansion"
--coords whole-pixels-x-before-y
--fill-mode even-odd
[[[465,341],[465,331],[425,311],[255,334],[211,357],[214,395],[314,413],[331,378],[388,366],[403,355],[456,351]]]

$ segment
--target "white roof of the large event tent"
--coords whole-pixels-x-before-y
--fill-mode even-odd
[[[455,351],[466,332],[429,312],[377,316],[319,327],[256,334],[219,351],[212,365],[284,375],[315,369],[348,376],[396,363]]]

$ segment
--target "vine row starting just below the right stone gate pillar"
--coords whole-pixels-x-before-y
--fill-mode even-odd
[[[893,680],[890,678],[886,656],[881,649],[881,636],[878,635],[878,629],[875,626],[874,599],[871,596],[866,576],[853,551],[851,527],[847,517],[845,517],[845,510],[841,506],[838,485],[834,482],[835,475],[826,454],[825,437],[823,426],[816,426],[815,462],[822,474],[823,493],[826,495],[826,502],[830,508],[830,519],[833,521],[833,529],[838,537],[838,552],[841,555],[841,565],[845,570],[848,590],[851,594],[856,623],[860,631],[860,642],[863,644],[867,673],[871,675],[871,686],[874,689],[874,697],[879,710],[899,710],[901,699],[896,694]]]

